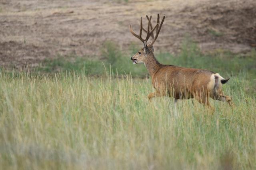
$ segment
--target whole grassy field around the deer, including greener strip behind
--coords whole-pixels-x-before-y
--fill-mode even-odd
[[[231,76],[224,92],[234,108],[211,100],[211,115],[194,100],[150,103],[144,66],[111,48],[102,53],[106,69],[77,58],[46,61],[36,71],[1,70],[1,169],[256,169],[255,51],[202,54],[184,43],[178,56],[157,55]]]

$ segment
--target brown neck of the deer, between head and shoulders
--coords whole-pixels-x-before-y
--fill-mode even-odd
[[[160,68],[160,65],[161,64],[156,60],[154,54],[150,53],[145,62],[145,66],[151,77],[158,71],[158,69]]]

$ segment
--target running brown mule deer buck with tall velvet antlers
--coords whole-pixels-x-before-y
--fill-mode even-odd
[[[144,63],[152,77],[155,92],[150,93],[148,99],[151,100],[159,96],[174,97],[175,101],[178,99],[195,98],[201,104],[208,106],[212,111],[214,111],[214,107],[210,105],[209,98],[222,102],[226,101],[231,106],[232,99],[230,96],[225,96],[222,92],[222,84],[228,82],[229,79],[225,80],[220,74],[210,70],[164,65],[156,60],[153,53],[153,44],[159,35],[165,16],[163,16],[160,23],[158,14],[157,23],[154,27],[152,27],[151,23],[152,16],[146,16],[146,18],[148,19],[147,29],[144,29],[142,26],[141,17],[139,35],[134,33],[131,24],[130,32],[143,42],[142,49],[131,57],[131,60],[133,64]],[[145,39],[142,38],[142,30],[147,34]],[[156,35],[154,36],[155,30]],[[152,41],[147,44],[150,37]]]

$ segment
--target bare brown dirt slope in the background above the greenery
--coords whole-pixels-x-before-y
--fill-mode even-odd
[[[126,50],[139,43],[129,23],[138,31],[140,16],[150,14],[155,23],[157,13],[166,20],[156,50],[178,52],[185,35],[202,51],[246,53],[256,46],[255,0],[0,0],[0,65],[37,65],[58,54],[97,56],[106,40]]]

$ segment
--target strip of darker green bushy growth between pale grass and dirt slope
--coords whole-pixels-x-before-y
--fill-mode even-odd
[[[54,72],[76,72],[87,76],[102,76],[106,72],[112,74],[129,75],[133,77],[149,77],[144,64],[132,64],[130,57],[140,49],[131,44],[128,53],[121,53],[117,44],[106,41],[102,46],[100,59],[88,59],[88,57],[58,56],[53,60],[46,60],[37,70]],[[157,52],[157,51],[156,51]],[[232,54],[229,51],[218,50],[214,53],[201,53],[196,43],[190,39],[184,41],[181,46],[181,53],[171,55],[170,53],[156,53],[156,58],[162,64],[173,64],[176,66],[190,68],[204,68],[219,73],[224,78],[242,77],[248,84],[246,94],[256,95],[256,52],[250,54]],[[110,69],[111,68],[111,69]]]

